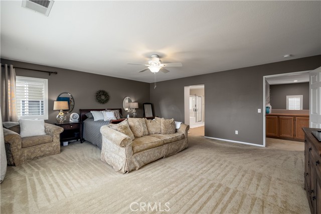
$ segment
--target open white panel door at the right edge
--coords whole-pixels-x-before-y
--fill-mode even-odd
[[[321,67],[311,71],[310,77],[310,128],[321,128]]]

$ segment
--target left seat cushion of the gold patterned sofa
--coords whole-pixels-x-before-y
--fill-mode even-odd
[[[132,151],[134,153],[164,145],[164,141],[155,137],[143,136],[132,141]]]

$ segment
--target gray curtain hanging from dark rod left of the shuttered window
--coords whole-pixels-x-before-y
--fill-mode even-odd
[[[0,73],[1,116],[4,122],[18,122],[16,105],[16,71],[13,65],[1,64]]]

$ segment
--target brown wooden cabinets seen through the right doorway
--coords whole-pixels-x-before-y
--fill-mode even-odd
[[[304,141],[302,128],[309,126],[306,114],[266,114],[266,137]]]

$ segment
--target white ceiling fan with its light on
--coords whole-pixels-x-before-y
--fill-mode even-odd
[[[156,54],[151,55],[150,59],[148,60],[148,65],[135,64],[135,63],[127,63],[127,64],[148,66],[147,68],[138,72],[144,72],[149,69],[152,73],[157,73],[159,70],[162,71],[163,73],[168,73],[170,71],[165,69],[165,67],[182,67],[183,66],[182,63],[162,63],[161,59],[159,59],[159,56]]]

